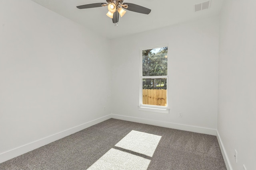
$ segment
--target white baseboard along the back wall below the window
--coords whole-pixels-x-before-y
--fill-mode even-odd
[[[216,129],[182,125],[182,124],[170,123],[166,121],[156,121],[151,119],[143,119],[139,117],[130,117],[130,116],[123,116],[123,115],[115,115],[115,114],[112,114],[112,118],[216,136]]]

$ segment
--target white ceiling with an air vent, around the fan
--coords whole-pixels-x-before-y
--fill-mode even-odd
[[[118,27],[106,16],[108,7],[78,9],[76,6],[106,2],[106,0],[32,0],[109,39],[148,31],[189,20],[219,14],[223,0],[211,0],[210,8],[194,12],[194,5],[206,0],[124,0],[151,9],[149,15],[126,10]]]

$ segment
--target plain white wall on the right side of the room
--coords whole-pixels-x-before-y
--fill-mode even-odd
[[[220,19],[218,133],[234,170],[256,169],[255,9],[254,0],[225,0]]]

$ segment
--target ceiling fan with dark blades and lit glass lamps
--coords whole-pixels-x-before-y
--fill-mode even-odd
[[[141,14],[149,14],[150,9],[143,6],[139,6],[132,3],[124,3],[124,0],[106,0],[107,3],[95,3],[77,6],[78,9],[96,8],[102,6],[108,6],[108,13],[106,14],[109,18],[112,18],[113,23],[118,26],[119,15],[122,17],[126,13],[126,10],[138,12]],[[124,9],[123,9],[124,8]]]

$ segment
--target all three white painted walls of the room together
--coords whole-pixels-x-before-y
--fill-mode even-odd
[[[256,169],[255,7],[226,0],[220,37],[214,17],[114,39],[109,49],[108,40],[30,0],[0,0],[0,162],[111,110],[188,131],[218,127],[230,166]],[[138,111],[140,49],[167,44],[170,113]]]

